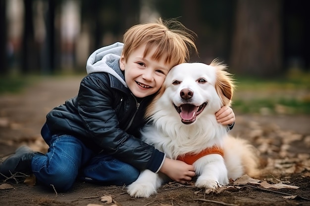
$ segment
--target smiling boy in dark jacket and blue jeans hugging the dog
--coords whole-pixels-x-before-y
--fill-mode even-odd
[[[159,19],[130,28],[123,42],[91,54],[78,95],[47,115],[41,134],[48,153],[22,146],[0,165],[0,173],[34,173],[41,184],[59,191],[70,189],[77,177],[129,185],[144,169],[181,183],[191,180],[192,165],[168,159],[142,142],[139,129],[169,70],[188,61],[190,47],[197,51],[193,37],[181,23]],[[229,107],[216,115],[222,124],[234,123]]]

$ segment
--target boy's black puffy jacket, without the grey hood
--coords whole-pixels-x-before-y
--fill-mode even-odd
[[[136,98],[111,74],[92,73],[82,80],[76,97],[47,115],[47,125],[52,134],[72,135],[97,153],[156,172],[164,154],[142,142],[139,132],[151,99]]]

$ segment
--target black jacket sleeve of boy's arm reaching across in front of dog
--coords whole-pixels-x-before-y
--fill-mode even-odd
[[[105,79],[103,79],[105,78]],[[113,93],[107,75],[85,77],[77,97],[78,112],[90,138],[105,152],[138,169],[156,172],[164,160],[164,154],[139,138],[120,129],[112,107]]]

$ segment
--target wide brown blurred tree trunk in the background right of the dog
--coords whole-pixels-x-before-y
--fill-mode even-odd
[[[281,73],[281,0],[237,0],[230,68],[272,77]]]

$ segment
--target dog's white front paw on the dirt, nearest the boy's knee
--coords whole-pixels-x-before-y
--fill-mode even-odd
[[[157,192],[151,183],[133,182],[131,185],[128,185],[127,193],[134,198],[149,198]]]

